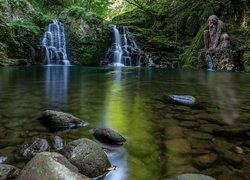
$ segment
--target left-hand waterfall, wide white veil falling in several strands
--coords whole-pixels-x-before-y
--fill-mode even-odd
[[[42,46],[46,51],[47,65],[70,65],[66,52],[64,26],[58,20],[52,20],[44,33]]]

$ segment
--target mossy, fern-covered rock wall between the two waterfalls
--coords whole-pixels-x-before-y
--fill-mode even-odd
[[[60,15],[65,25],[69,57],[75,64],[98,65],[104,59],[111,36],[103,20],[81,7],[70,7]]]

